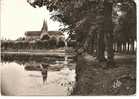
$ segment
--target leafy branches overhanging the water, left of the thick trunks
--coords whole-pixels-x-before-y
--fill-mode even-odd
[[[49,11],[53,12],[53,20],[68,25],[68,27],[63,30],[69,30],[70,33],[73,31],[77,34],[80,33],[78,35],[78,40],[82,40],[83,37],[86,37],[86,34],[89,31],[95,32],[97,24],[99,23],[96,21],[101,17],[95,17],[95,15],[98,10],[101,10],[103,4],[103,0],[35,0],[34,2],[28,0],[28,2],[33,7],[45,5]],[[107,2],[112,2],[114,5],[122,3],[121,10],[127,10],[127,8],[128,10],[131,10],[135,7],[133,0],[107,0]],[[118,9],[115,11],[117,12]],[[133,11],[135,10],[132,10],[131,12]]]

